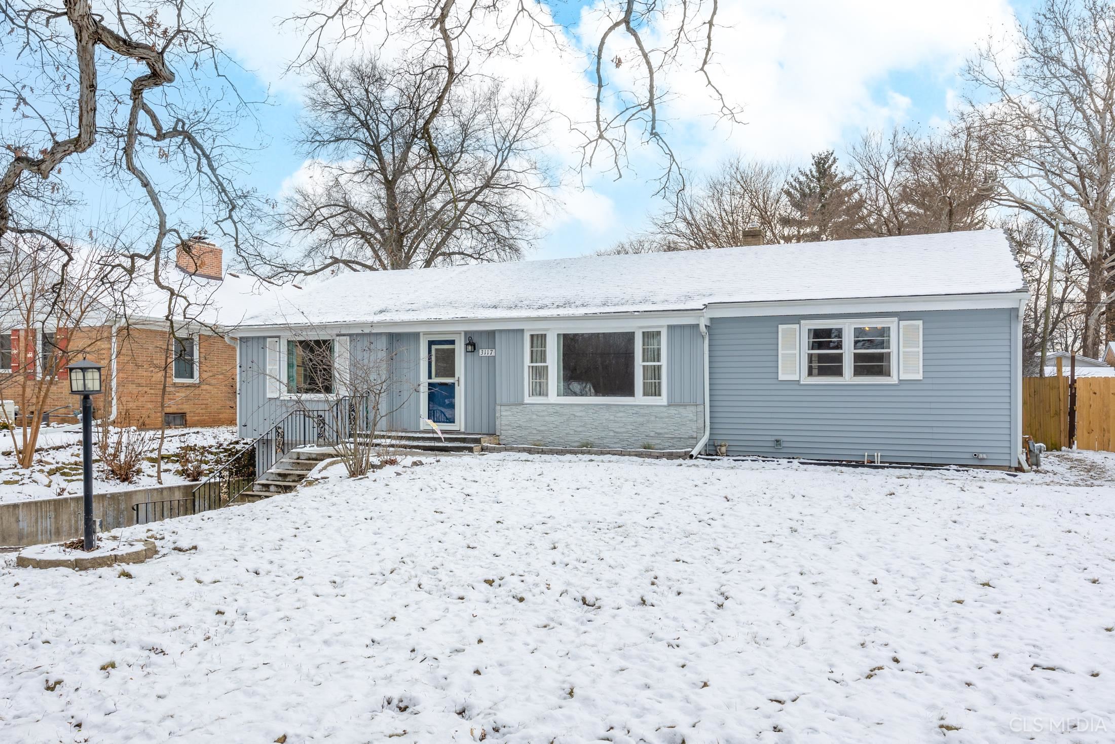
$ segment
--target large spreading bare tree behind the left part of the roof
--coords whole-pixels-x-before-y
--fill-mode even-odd
[[[473,80],[443,96],[445,73],[426,60],[319,58],[308,69],[312,114],[299,144],[314,160],[285,210],[306,248],[284,270],[522,255],[553,185],[539,152],[545,119],[536,88]]]

